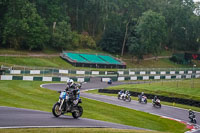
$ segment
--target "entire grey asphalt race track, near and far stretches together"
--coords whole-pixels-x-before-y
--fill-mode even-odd
[[[138,83],[138,82],[133,82]],[[124,84],[123,82],[114,82],[113,85]],[[189,122],[188,112],[185,109],[174,108],[170,106],[162,106],[161,109],[152,107],[150,101],[148,104],[140,104],[137,101],[132,100],[131,102],[124,102],[118,100],[117,97],[105,96],[84,93],[85,90],[99,89],[109,86],[104,82],[100,82],[98,78],[94,78],[92,82],[85,83],[81,88],[81,96],[93,100],[102,101],[118,106],[123,106],[130,109],[135,109],[159,116],[166,116],[173,119],[177,119],[183,122]],[[43,88],[51,90],[64,90],[66,84],[43,84]],[[200,122],[200,113],[196,112],[197,124]],[[23,127],[109,127],[109,128],[122,128],[122,129],[141,129],[131,126],[125,126],[121,124],[115,124],[110,122],[103,122],[98,120],[79,118],[73,119],[71,116],[61,116],[55,118],[52,113],[43,111],[34,111],[29,109],[19,109],[12,107],[1,107],[0,106],[0,128],[23,128]],[[197,125],[198,126],[198,125]],[[143,129],[144,130],[144,129]],[[196,131],[198,133],[200,131]]]

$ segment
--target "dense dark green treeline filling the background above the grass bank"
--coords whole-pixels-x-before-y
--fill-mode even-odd
[[[200,47],[200,4],[192,0],[1,0],[0,12],[5,48],[89,47],[140,59]]]

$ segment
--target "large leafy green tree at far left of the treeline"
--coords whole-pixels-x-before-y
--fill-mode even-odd
[[[47,27],[37,14],[36,8],[28,0],[9,1],[4,17],[3,43],[10,48],[44,48],[49,40]]]

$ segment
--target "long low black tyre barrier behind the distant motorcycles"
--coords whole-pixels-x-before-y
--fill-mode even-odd
[[[110,93],[110,94],[118,94],[120,90],[110,90],[110,89],[99,89],[99,93]],[[141,94],[141,92],[134,92],[134,91],[129,91],[131,96],[138,96]],[[147,96],[148,99],[153,99],[155,94],[148,94],[145,93],[145,96]],[[189,105],[189,106],[195,106],[195,107],[200,107],[200,101],[196,100],[191,100],[191,99],[184,99],[184,98],[176,98],[176,97],[167,97],[167,96],[162,96],[162,95],[156,95],[161,101],[165,102],[175,102],[178,104],[184,104],[184,105]]]

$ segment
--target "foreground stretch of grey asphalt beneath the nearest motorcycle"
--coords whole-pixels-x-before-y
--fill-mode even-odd
[[[19,109],[0,106],[0,128],[34,128],[34,127],[90,127],[90,128],[142,128],[103,122],[87,118],[74,119],[71,116],[62,115],[54,117],[50,112]],[[145,129],[142,129],[145,130]]]

